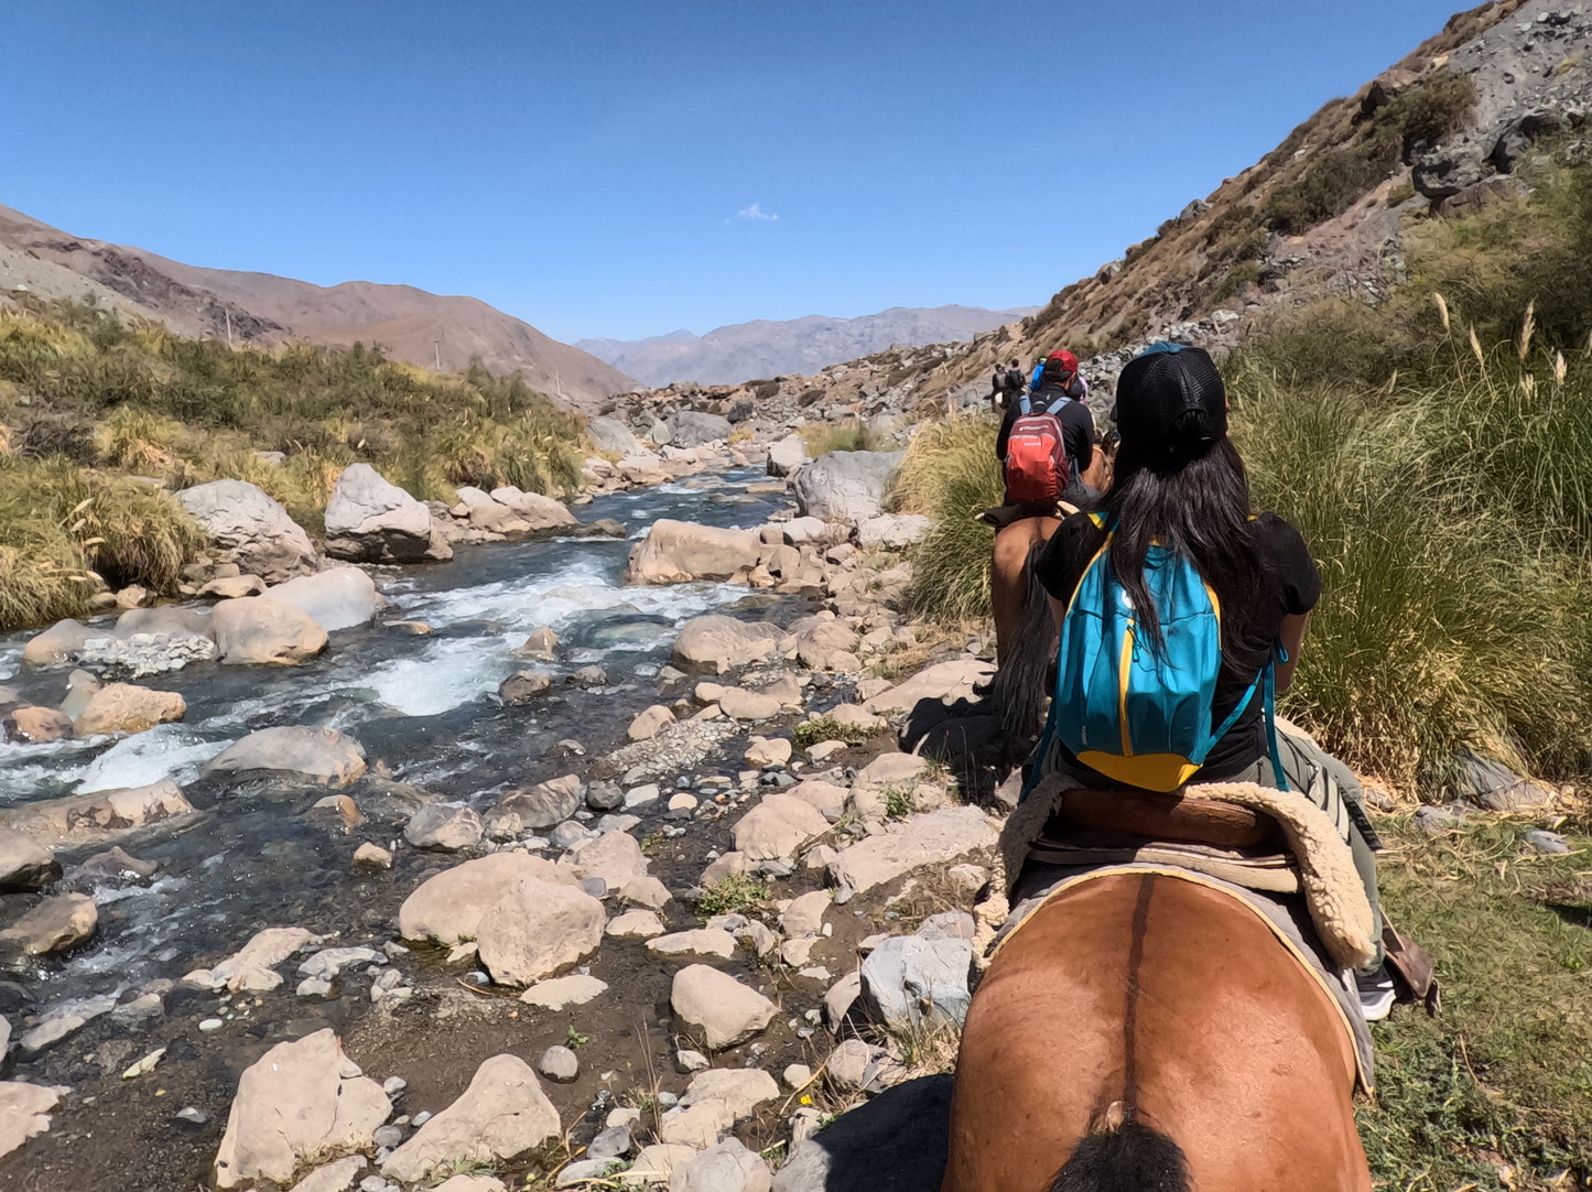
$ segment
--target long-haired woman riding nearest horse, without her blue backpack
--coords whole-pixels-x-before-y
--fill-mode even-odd
[[[1157,344],[1127,364],[1118,380],[1116,423],[1121,444],[1111,485],[1098,512],[1114,525],[1110,562],[1145,632],[1157,633],[1156,606],[1145,584],[1151,543],[1184,555],[1216,594],[1221,608],[1221,672],[1212,719],[1221,724],[1272,660],[1277,691],[1293,681],[1310,610],[1321,597],[1321,578],[1310,551],[1277,514],[1251,514],[1250,484],[1227,438],[1227,396],[1210,355],[1194,347]],[[1060,524],[1035,560],[1035,578],[1051,595],[1057,622],[1105,532],[1086,514]],[[1293,789],[1317,789],[1331,780],[1350,820],[1350,847],[1366,894],[1377,909],[1375,832],[1361,810],[1355,775],[1313,742],[1280,735],[1282,767]],[[1110,788],[1116,780],[1091,770],[1060,742],[1038,759],[1044,773],[1063,772],[1086,786]],[[1212,748],[1199,781],[1277,785],[1267,750],[1262,702],[1251,699],[1227,734]],[[1393,984],[1377,961],[1360,974],[1368,1017],[1383,1017]]]

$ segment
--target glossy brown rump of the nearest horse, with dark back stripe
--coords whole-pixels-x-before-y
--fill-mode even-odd
[[[941,1192],[1369,1192],[1355,1071],[1329,995],[1254,912],[1102,875],[990,963]]]

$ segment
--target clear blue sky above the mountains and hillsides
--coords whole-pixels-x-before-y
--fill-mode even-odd
[[[567,341],[1041,304],[1458,3],[16,3],[0,204]]]

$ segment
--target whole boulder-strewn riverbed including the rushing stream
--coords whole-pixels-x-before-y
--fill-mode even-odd
[[[10,1186],[769,1187],[944,1060],[990,667],[892,608],[898,457],[653,446],[591,462],[630,544],[350,468],[307,552],[193,498],[212,606],[18,643]]]

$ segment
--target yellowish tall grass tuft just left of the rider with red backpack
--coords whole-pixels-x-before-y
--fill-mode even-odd
[[[919,616],[936,621],[989,616],[995,538],[977,514],[1000,504],[1006,493],[995,458],[997,430],[990,417],[933,422],[920,427],[907,447],[893,504],[935,520],[912,555],[907,606]]]

